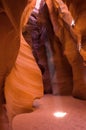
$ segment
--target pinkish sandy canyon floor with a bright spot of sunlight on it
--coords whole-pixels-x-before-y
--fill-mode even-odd
[[[34,105],[34,112],[14,118],[13,130],[86,130],[86,101],[45,95]]]

